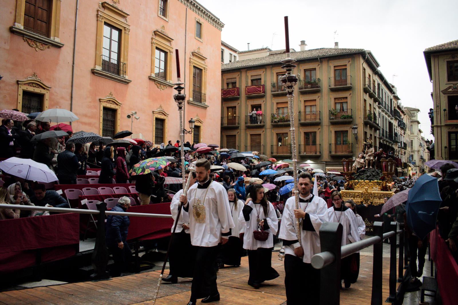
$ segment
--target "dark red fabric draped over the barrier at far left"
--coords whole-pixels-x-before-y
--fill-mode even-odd
[[[36,265],[37,249],[42,262],[75,255],[78,223],[75,213],[0,220],[0,273]]]

